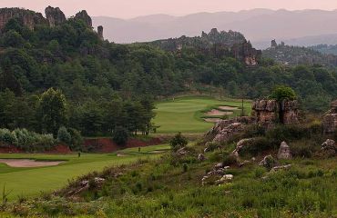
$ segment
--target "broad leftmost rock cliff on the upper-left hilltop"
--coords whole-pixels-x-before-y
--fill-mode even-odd
[[[0,8],[0,30],[12,18],[20,19],[24,25],[33,30],[36,25],[46,25],[47,20],[42,14],[21,8]]]

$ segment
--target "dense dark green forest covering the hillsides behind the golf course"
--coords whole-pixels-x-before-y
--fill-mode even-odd
[[[226,52],[209,53],[228,41],[232,47],[221,50]],[[165,46],[172,47],[169,42],[177,45],[168,40]],[[248,55],[259,53],[234,32],[213,29],[194,42],[178,50],[162,49],[158,42],[117,45],[102,40],[82,19],[31,29],[13,18],[0,35],[0,127],[57,134],[66,126],[87,136],[108,135],[118,127],[148,134],[156,99],[209,85],[228,96],[260,98],[287,84],[314,112],[324,111],[337,96],[334,68],[284,66],[259,55],[259,65],[248,66],[239,57],[247,49]]]

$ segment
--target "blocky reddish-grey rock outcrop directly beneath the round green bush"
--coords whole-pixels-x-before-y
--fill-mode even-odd
[[[297,124],[299,122],[299,108],[297,101],[258,100],[252,105],[253,115],[258,124],[271,125]]]

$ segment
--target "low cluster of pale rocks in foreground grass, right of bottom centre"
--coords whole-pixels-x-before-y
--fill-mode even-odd
[[[209,184],[215,181],[215,184],[228,183],[233,180],[232,174],[226,174],[226,170],[230,169],[230,166],[224,166],[222,163],[217,163],[213,170],[204,175],[201,179],[201,184]],[[210,182],[209,182],[210,181]]]

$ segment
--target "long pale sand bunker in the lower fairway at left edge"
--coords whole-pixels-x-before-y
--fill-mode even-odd
[[[5,163],[11,167],[39,167],[39,166],[53,166],[60,163],[65,163],[64,161],[35,161],[29,159],[0,159],[0,163]]]

